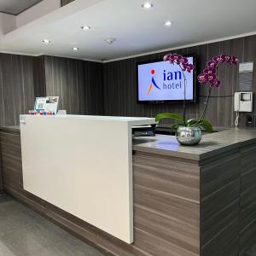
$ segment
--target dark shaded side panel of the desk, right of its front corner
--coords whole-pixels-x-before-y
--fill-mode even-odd
[[[240,149],[201,166],[201,255],[239,254]]]

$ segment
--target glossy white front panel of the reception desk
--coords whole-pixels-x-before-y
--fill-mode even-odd
[[[20,116],[24,189],[131,243],[131,125],[154,119],[76,117]]]

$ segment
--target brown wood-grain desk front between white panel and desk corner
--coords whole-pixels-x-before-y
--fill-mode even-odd
[[[135,227],[143,230],[143,250],[150,255],[199,255],[199,166],[137,153],[133,172]],[[141,241],[135,246],[141,247]]]

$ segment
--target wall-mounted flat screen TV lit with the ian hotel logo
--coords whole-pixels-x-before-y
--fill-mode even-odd
[[[195,65],[195,55],[187,55]],[[185,73],[186,100],[195,102],[195,71]],[[184,98],[183,73],[178,65],[168,61],[137,63],[137,102],[178,102]]]

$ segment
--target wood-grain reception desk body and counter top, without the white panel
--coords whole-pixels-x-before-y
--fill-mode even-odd
[[[131,244],[27,192],[19,127],[0,131],[3,188],[103,253],[236,256],[256,242],[256,131],[207,134],[195,147],[172,136],[134,139]]]

